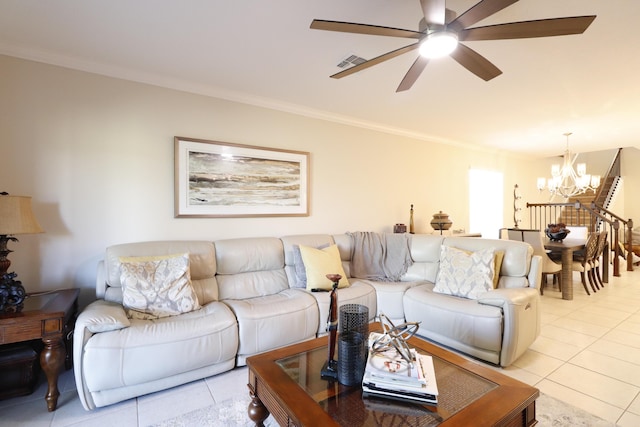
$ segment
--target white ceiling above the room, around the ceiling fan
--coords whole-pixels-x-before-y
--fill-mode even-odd
[[[477,0],[448,0],[461,13]],[[466,44],[395,90],[417,52],[330,79],[350,54],[412,40],[309,29],[314,18],[418,29],[419,0],[0,0],[0,53],[432,141],[534,156],[640,147],[640,1],[521,0],[477,25],[597,15],[582,35]]]

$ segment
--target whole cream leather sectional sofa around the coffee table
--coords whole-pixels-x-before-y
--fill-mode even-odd
[[[87,410],[212,376],[246,358],[325,333],[328,292],[296,288],[294,246],[336,244],[350,277],[352,238],[297,235],[207,241],[158,241],[107,248],[97,300],[77,319],[74,369]],[[440,248],[504,251],[498,288],[475,299],[433,292]],[[200,309],[155,320],[128,318],[121,257],[188,253]],[[363,304],[370,320],[420,321],[418,334],[484,361],[508,366],[540,329],[540,259],[522,242],[410,236],[413,264],[399,282],[350,278],[338,303]],[[331,273],[331,272],[328,272]]]

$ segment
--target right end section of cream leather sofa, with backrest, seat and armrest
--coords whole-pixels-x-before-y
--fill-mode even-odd
[[[418,243],[416,240],[414,244]],[[440,248],[418,245],[414,269],[429,271],[428,283],[403,295],[405,318],[421,322],[418,335],[500,366],[509,366],[540,334],[540,257],[512,240],[447,237],[442,245],[467,251],[491,246],[504,251],[498,289],[471,300],[433,292]],[[413,246],[412,246],[413,255]],[[421,265],[424,264],[424,265]]]

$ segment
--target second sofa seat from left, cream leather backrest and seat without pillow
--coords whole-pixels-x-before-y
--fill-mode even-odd
[[[238,365],[254,354],[315,338],[318,306],[310,293],[289,287],[282,240],[229,239],[214,245],[218,294],[238,319]]]

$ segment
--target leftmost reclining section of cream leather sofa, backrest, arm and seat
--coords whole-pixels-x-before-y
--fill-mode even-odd
[[[122,307],[120,256],[189,252],[202,309],[158,320],[127,320]],[[237,320],[217,301],[211,242],[141,242],[107,248],[98,268],[97,301],[78,316],[74,375],[85,409],[110,405],[233,369]],[[122,319],[125,319],[123,321]]]

